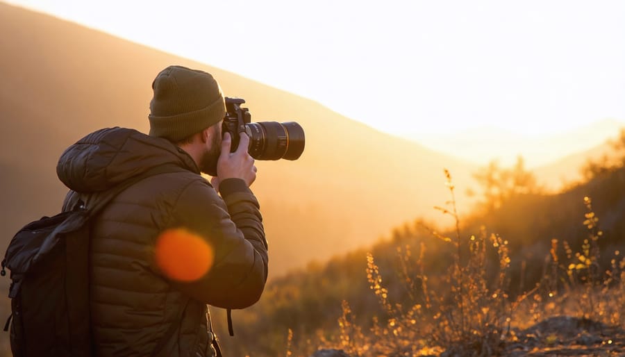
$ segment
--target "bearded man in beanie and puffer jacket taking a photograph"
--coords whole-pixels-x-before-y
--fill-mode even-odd
[[[64,210],[145,176],[92,225],[94,348],[97,356],[215,356],[206,304],[251,306],[267,280],[267,241],[249,190],[256,167],[247,135],[233,153],[230,135],[222,140],[226,107],[213,76],[170,66],[152,88],[149,135],[97,131],[57,167],[71,189]]]

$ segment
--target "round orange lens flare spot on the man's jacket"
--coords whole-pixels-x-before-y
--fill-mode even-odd
[[[213,247],[186,229],[168,229],[156,240],[156,264],[169,279],[195,281],[213,266]]]

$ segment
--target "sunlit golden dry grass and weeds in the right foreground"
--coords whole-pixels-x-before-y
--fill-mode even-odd
[[[560,259],[560,244],[552,240],[549,274],[532,290],[512,298],[506,293],[508,242],[487,234],[485,229],[477,235],[462,234],[451,175],[447,170],[445,174],[451,200],[449,208],[438,209],[455,219],[455,234],[447,237],[429,231],[434,238],[451,244],[453,257],[447,274],[426,276],[426,244],[421,244],[416,255],[409,245],[398,247],[400,269],[395,278],[402,282],[410,299],[408,304],[399,304],[389,296],[374,256],[367,254],[367,279],[385,315],[374,317],[372,327],[364,329],[356,323],[348,302],[343,301],[335,348],[354,357],[497,356],[519,343],[521,329],[553,316],[578,317],[622,329],[625,259],[617,251],[610,269],[599,271],[597,243],[602,233],[589,197],[584,198],[589,237],[581,251],[573,253],[564,242],[561,247],[567,259]],[[497,263],[493,264],[489,256],[497,256]]]

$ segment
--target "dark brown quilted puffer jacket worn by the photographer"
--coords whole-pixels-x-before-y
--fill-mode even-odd
[[[92,226],[90,301],[98,356],[214,356],[206,304],[246,308],[265,287],[267,241],[256,197],[237,178],[219,185],[219,197],[188,153],[167,140],[128,128],[79,140],[57,167],[71,189],[64,210],[78,197],[89,206],[115,185],[163,165],[175,172],[131,185]],[[157,237],[169,229],[185,229],[212,247],[213,264],[199,279],[172,279],[156,263]],[[176,258],[176,251],[165,256]],[[177,258],[185,264],[185,257]]]

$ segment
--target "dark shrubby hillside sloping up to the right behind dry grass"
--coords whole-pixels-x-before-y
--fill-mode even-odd
[[[612,259],[615,259],[616,262],[622,262],[620,263],[620,268],[618,263],[616,263],[615,268],[615,272],[621,272],[620,278],[618,274],[612,276],[615,279],[615,281],[612,281],[613,285],[615,285],[612,291],[620,300],[610,300],[609,295],[606,295],[608,301],[601,304],[597,303],[597,306],[587,304],[585,300],[589,299],[589,297],[583,295],[585,290],[581,288],[581,285],[567,282],[567,279],[562,279],[561,281],[551,280],[553,274],[551,272],[552,265],[550,265],[550,262],[553,262],[550,254],[550,249],[553,247],[552,240],[554,238],[558,240],[557,249],[554,252],[565,269],[560,274],[567,276],[567,265],[570,262],[579,262],[578,257],[572,255],[572,253],[583,252],[583,241],[590,239],[590,230],[583,223],[585,217],[588,217],[586,215],[588,210],[584,204],[584,197],[592,198],[593,213],[596,217],[599,217],[599,229],[603,232],[597,241],[600,251],[600,254],[598,254],[599,272],[605,272],[606,269],[614,269],[610,267],[612,264],[610,260]],[[546,308],[540,310],[540,313],[537,307],[530,307],[528,310],[519,308],[521,310],[520,314],[525,313],[526,315],[521,315],[520,319],[512,322],[513,326],[520,326],[522,329],[525,329],[526,326],[532,323],[537,324],[537,322],[540,322],[532,329],[536,329],[536,326],[542,326],[541,329],[545,329],[545,326],[548,326],[548,329],[558,331],[558,327],[551,326],[553,319],[549,319],[549,315],[543,314],[551,311],[553,315],[561,315],[566,311],[567,313],[573,313],[573,316],[583,316],[583,319],[580,321],[585,321],[586,324],[601,325],[597,322],[590,322],[583,315],[583,308],[586,306],[585,308],[590,308],[591,311],[594,311],[594,313],[590,313],[590,315],[594,314],[594,317],[603,316],[603,319],[606,319],[606,321],[610,318],[620,319],[621,322],[625,321],[622,316],[621,305],[622,301],[625,301],[625,280],[622,280],[625,279],[625,260],[622,260],[622,252],[625,251],[625,224],[622,220],[624,216],[625,167],[621,167],[614,172],[597,176],[588,183],[570,188],[561,194],[521,195],[510,199],[497,210],[474,217],[460,217],[460,234],[461,239],[468,242],[471,235],[480,235],[481,227],[484,227],[487,235],[495,233],[501,237],[501,241],[505,240],[507,242],[506,247],[509,249],[510,256],[510,275],[508,276],[509,279],[506,279],[506,291],[510,293],[512,301],[519,296],[521,290],[524,292],[532,290],[536,283],[540,283],[540,289],[537,290],[537,294],[533,295],[533,299],[528,301],[529,306],[541,304],[541,299],[552,297],[551,293],[559,290],[562,296],[556,294],[557,299],[554,298],[551,302],[544,300]],[[442,234],[449,234],[448,236],[453,237],[455,233],[443,232]],[[571,252],[566,251],[565,242],[569,244],[570,249],[572,249]],[[405,252],[406,246],[409,245],[412,251],[410,261],[415,262],[420,252],[419,244],[422,243],[424,244],[422,247],[426,249],[426,254],[419,258],[419,261],[423,263],[424,270],[420,270],[419,265],[409,268],[416,269],[410,270],[412,272],[411,279],[416,281],[416,286],[412,286],[413,290],[410,290],[407,288],[406,285],[408,284],[402,275],[402,272],[406,269],[402,265],[404,256],[401,256],[398,252],[400,250]],[[487,245],[490,246],[490,244]],[[465,248],[468,250],[468,247]],[[492,247],[490,248],[492,249]],[[436,283],[436,281],[439,281],[439,279],[444,280],[445,276],[447,276],[447,269],[453,265],[453,249],[452,244],[437,240],[433,235],[422,229],[419,224],[410,224],[399,226],[389,231],[387,239],[371,247],[351,251],[344,256],[333,258],[324,265],[311,264],[299,272],[291,272],[269,284],[261,304],[237,314],[238,317],[235,317],[235,321],[239,321],[242,325],[238,329],[238,336],[239,339],[245,342],[241,344],[240,340],[230,342],[231,340],[226,339],[226,347],[241,354],[254,354],[255,351],[263,351],[263,353],[259,354],[260,356],[274,356],[279,351],[283,351],[285,336],[289,329],[293,331],[294,336],[297,336],[297,342],[294,343],[299,344],[299,346],[306,347],[307,338],[313,338],[313,340],[315,338],[321,340],[323,338],[335,338],[336,340],[336,336],[340,333],[337,320],[342,315],[343,300],[349,303],[351,308],[350,317],[356,319],[356,323],[361,324],[361,326],[371,326],[372,320],[374,317],[377,317],[381,321],[379,326],[386,326],[385,317],[388,317],[387,313],[389,311],[379,303],[379,299],[381,299],[378,294],[380,292],[379,288],[376,288],[376,294],[378,294],[376,296],[372,292],[374,283],[371,280],[367,281],[367,278],[371,279],[372,274],[370,270],[367,270],[369,269],[367,254],[372,254],[375,258],[375,263],[379,267],[381,276],[379,283],[383,284],[387,289],[385,294],[387,293],[388,295],[390,306],[399,303],[404,307],[408,306],[410,308],[412,306],[410,301],[412,301],[412,304],[415,303],[414,297],[410,296],[410,294],[420,290],[419,279],[420,276],[423,276],[422,274],[428,276],[429,288],[437,292],[449,289],[449,286],[444,286],[445,282],[440,285],[440,282]],[[467,251],[465,251],[466,253]],[[567,255],[572,256],[567,257]],[[494,263],[487,260],[485,272],[487,275],[497,274],[499,270],[497,268],[497,256],[490,256],[490,259],[494,259]],[[618,288],[619,284],[621,290]],[[560,288],[558,288],[558,285],[560,285]],[[567,286],[567,288],[562,288],[562,286]],[[609,290],[601,290],[601,284],[597,286],[599,287],[597,289],[600,291],[599,294],[605,295],[609,292]],[[571,287],[578,288],[581,291],[567,290]],[[479,296],[479,292],[467,292],[467,294]],[[601,297],[594,297],[593,299],[599,301]],[[592,299],[590,301],[592,303]],[[421,302],[421,304],[425,305],[426,303]],[[496,307],[494,305],[485,306],[485,308],[492,309]],[[611,315],[608,311],[611,311]],[[439,311],[435,310],[434,312]],[[218,310],[218,313],[221,314],[222,312]],[[545,318],[547,319],[541,322],[541,319]],[[220,321],[220,319],[217,321]],[[576,323],[576,318],[561,317],[561,319],[571,322],[572,326],[562,325],[560,332],[557,333],[563,333],[565,330],[569,331],[571,328],[579,329],[576,333],[580,333],[582,336],[584,333],[588,335],[588,331],[592,332],[592,329],[587,327],[587,325],[583,325],[581,322]],[[422,321],[418,319],[417,321],[415,329],[419,331],[419,324]],[[267,331],[266,326],[272,326],[271,331]],[[393,324],[388,326],[393,326]],[[400,324],[400,326],[405,327],[406,325]],[[622,346],[625,343],[622,323],[620,328],[618,328],[618,325],[610,326],[609,328],[611,329],[612,327],[619,330],[620,337],[601,333],[602,337],[599,338],[599,342],[579,343],[581,346],[575,347],[575,350],[571,350],[567,356],[590,356],[590,354],[584,354],[583,351],[591,349],[591,346],[597,347],[599,345],[598,348],[600,348],[602,339],[604,341],[603,345],[610,347],[610,350],[612,346],[606,342],[608,338],[615,340],[614,342],[619,340],[618,343]],[[347,329],[345,326],[341,326],[341,328]],[[224,326],[219,326],[219,329],[224,329]],[[608,326],[603,327],[604,333],[607,333],[607,329]],[[353,326],[350,331],[354,331]],[[555,335],[556,333],[553,331],[551,333]],[[225,330],[219,332],[222,335],[226,334]],[[363,333],[367,336],[367,333],[369,333],[368,329],[363,329]],[[382,333],[382,331],[374,332],[372,330],[371,333]],[[264,335],[265,338],[257,339],[256,336],[258,335]],[[519,343],[508,345],[512,346],[512,349],[508,349],[508,351],[511,353],[515,346],[524,347],[524,344],[527,346],[544,344],[540,348],[544,348],[547,351],[549,350],[548,347],[555,347],[558,343],[564,344],[565,342],[562,341],[566,340],[566,338],[562,338],[560,335],[558,335],[558,338],[562,339],[560,342],[556,340],[546,342],[546,337],[535,339],[535,335],[533,335],[534,339],[532,339],[531,336],[531,333],[528,333],[528,340],[519,340],[517,341]],[[577,336],[579,338],[580,335]],[[378,337],[380,336],[378,335]],[[567,343],[576,344],[574,337],[575,333],[569,335],[567,338],[572,339],[572,341]],[[391,337],[383,335],[381,340],[378,341],[381,344],[392,344],[387,339],[391,340]],[[372,340],[376,340],[376,337],[374,336]],[[426,345],[431,345],[431,341],[426,341],[425,343]],[[314,342],[313,346],[315,346]],[[619,347],[615,345],[614,348],[618,349]],[[533,352],[536,352],[537,349],[538,347]],[[577,350],[579,352],[576,352]],[[515,354],[515,356],[539,356],[539,354],[530,354],[529,349],[524,349],[524,351],[528,354],[521,353]],[[558,350],[553,349],[553,351]],[[461,355],[470,355],[470,351],[465,352],[466,354]],[[377,356],[376,354],[364,354],[364,356],[369,355]],[[508,356],[508,354],[504,355]],[[543,355],[540,354],[540,356]],[[544,356],[547,356],[547,354]],[[592,354],[592,356],[595,355]]]

